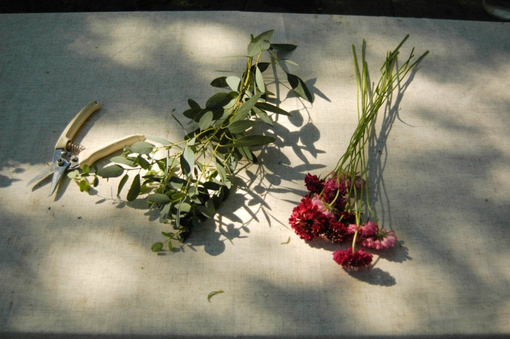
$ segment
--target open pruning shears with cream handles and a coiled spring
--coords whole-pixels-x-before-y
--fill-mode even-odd
[[[28,182],[27,186],[38,184],[41,180],[53,174],[52,186],[49,188],[48,194],[48,196],[50,196],[55,192],[64,173],[67,171],[83,168],[85,165],[91,166],[92,163],[106,157],[108,154],[123,149],[126,145],[130,146],[138,141],[145,141],[145,136],[134,134],[114,140],[94,150],[86,149],[83,145],[73,142],[72,138],[76,132],[78,132],[78,129],[80,129],[85,120],[99,108],[99,103],[97,101],[92,101],[78,112],[64,129],[59,139],[57,139],[57,144],[55,144],[55,150],[53,152],[53,165],[36,175]]]

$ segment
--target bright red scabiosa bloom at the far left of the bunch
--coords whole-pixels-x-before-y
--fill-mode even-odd
[[[324,215],[312,203],[307,195],[301,199],[301,203],[294,207],[289,218],[289,224],[296,232],[299,238],[303,240],[312,240],[318,230],[324,225]]]

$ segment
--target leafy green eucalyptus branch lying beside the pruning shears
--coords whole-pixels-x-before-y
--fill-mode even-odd
[[[90,190],[88,178],[91,176],[92,186],[98,185],[99,177],[122,176],[118,197],[131,180],[126,200],[143,197],[159,213],[160,222],[171,225],[170,231],[162,232],[166,240],[153,244],[152,251],[161,252],[165,247],[171,251],[173,240],[184,242],[192,229],[214,218],[216,209],[232,188],[238,164],[256,163],[253,148],[275,140],[264,134],[252,134],[256,120],[271,125],[270,115],[290,115],[266,101],[272,93],[267,90],[262,73],[275,62],[271,50],[289,52],[296,46],[271,44],[272,34],[273,31],[267,31],[257,37],[251,36],[241,78],[222,76],[211,82],[212,86],[227,91],[214,94],[203,106],[188,99],[189,109],[183,115],[193,122],[195,128],[186,134],[184,140],[172,143],[158,137],[147,137],[149,141],[163,146],[148,141],[138,142],[126,146],[119,157],[112,158],[114,165],[95,168],[93,174],[89,169],[84,169],[81,174],[73,173],[72,178],[82,191]],[[265,53],[270,54],[269,63],[261,61]],[[290,76],[291,88],[305,100],[312,101],[304,82],[296,75],[287,75]],[[172,117],[183,127],[178,119]],[[166,151],[163,159],[156,158],[155,154],[160,150]],[[136,175],[133,176],[132,171]]]

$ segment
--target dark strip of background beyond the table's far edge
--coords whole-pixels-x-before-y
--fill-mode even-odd
[[[501,21],[482,0],[4,0],[0,13],[250,11]]]

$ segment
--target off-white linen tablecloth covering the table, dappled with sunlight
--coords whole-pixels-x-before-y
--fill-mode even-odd
[[[27,180],[87,102],[89,148],[141,133],[181,140],[170,117],[241,70],[249,35],[299,45],[290,66],[315,102],[286,98],[276,147],[242,174],[221,216],[158,256],[168,230],[144,202],[64,179]],[[381,224],[402,241],[348,274],[338,245],[288,226],[303,176],[325,175],[356,122],[351,44],[372,78],[386,51],[429,49],[398,111],[379,117],[371,159]],[[0,332],[30,337],[343,337],[510,334],[510,23],[246,13],[0,15]],[[285,79],[285,78],[284,78]],[[379,154],[379,157],[374,157]],[[262,175],[264,170],[264,175]],[[250,180],[251,179],[251,180]],[[290,237],[288,244],[282,244]],[[210,292],[223,290],[208,302]]]

